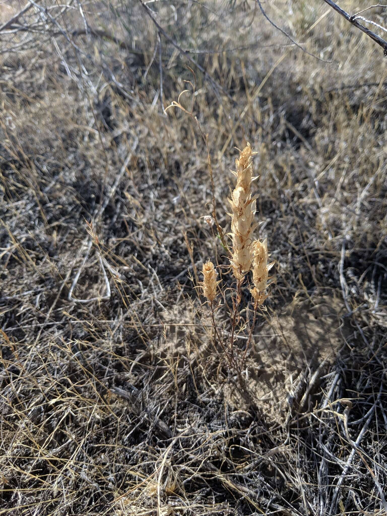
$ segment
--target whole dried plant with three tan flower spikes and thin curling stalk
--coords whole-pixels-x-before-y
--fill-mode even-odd
[[[195,74],[193,75],[195,76]],[[195,95],[195,82],[192,84],[188,81],[188,84],[191,85],[193,95]],[[218,232],[217,236],[221,241],[222,247],[229,253],[231,269],[233,276],[236,279],[236,288],[232,290],[232,309],[230,314],[231,332],[227,339],[221,338],[219,329],[215,323],[215,311],[219,306],[216,302],[216,297],[217,294],[221,294],[221,297],[225,300],[225,291],[218,289],[218,284],[220,283],[220,281],[217,280],[218,273],[215,270],[214,264],[209,259],[203,264],[203,281],[199,282],[199,286],[201,287],[202,294],[206,298],[211,311],[213,327],[215,330],[214,346],[218,340],[223,351],[227,352],[230,363],[234,362],[237,364],[237,362],[235,362],[233,343],[235,329],[240,319],[239,305],[243,283],[246,281],[246,277],[248,277],[247,275],[249,272],[252,271],[253,286],[251,286],[249,290],[254,306],[254,318],[246,345],[246,355],[246,351],[251,340],[251,332],[255,324],[257,309],[267,298],[266,285],[269,279],[268,271],[272,266],[272,264],[267,263],[269,255],[267,252],[266,239],[261,241],[254,238],[254,230],[257,227],[257,223],[254,221],[256,212],[256,196],[252,195],[251,185],[253,181],[257,179],[257,176],[254,176],[253,162],[253,156],[257,153],[253,152],[250,143],[247,143],[246,147],[239,151],[239,156],[235,159],[235,171],[231,171],[236,177],[236,184],[235,188],[231,190],[229,199],[231,206],[231,213],[229,214],[231,217],[231,232],[228,236],[231,237],[231,245],[227,246],[225,235],[220,227],[215,209],[215,183],[211,166],[211,155],[208,147],[208,135],[203,133],[198,119],[193,116],[193,100],[189,111],[181,104],[181,97],[185,93],[188,93],[188,90],[184,90],[179,95],[178,101],[173,101],[166,110],[169,110],[172,107],[179,108],[185,112],[185,114],[189,115],[198,127],[207,149],[207,164],[212,186],[213,210],[211,217],[209,215],[205,215],[203,218],[211,228],[215,225]]]

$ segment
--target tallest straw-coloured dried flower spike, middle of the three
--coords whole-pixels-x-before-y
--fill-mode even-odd
[[[239,151],[240,152],[240,151]],[[251,196],[251,182],[253,177],[253,160],[250,143],[240,152],[239,158],[235,160],[236,186],[231,192],[231,266],[237,280],[244,278],[251,269],[253,254],[251,251],[252,232],[256,224],[253,224],[256,201]]]

